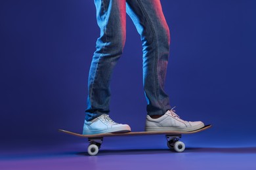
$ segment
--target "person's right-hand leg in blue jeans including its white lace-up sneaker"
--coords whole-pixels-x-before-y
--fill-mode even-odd
[[[170,34],[160,0],[127,0],[127,13],[143,47],[143,85],[147,100],[146,131],[193,131],[203,122],[184,121],[171,109],[164,91]],[[158,116],[158,118],[154,118]]]

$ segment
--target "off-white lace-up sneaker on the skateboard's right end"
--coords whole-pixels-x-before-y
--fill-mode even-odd
[[[184,121],[173,110],[167,110],[160,118],[147,115],[145,131],[194,131],[203,126],[203,122]]]

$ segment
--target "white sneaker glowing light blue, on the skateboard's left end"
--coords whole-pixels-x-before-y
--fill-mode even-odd
[[[85,124],[83,124],[83,135],[129,131],[131,131],[129,125],[117,124],[108,114],[102,114],[89,122],[85,120]]]

